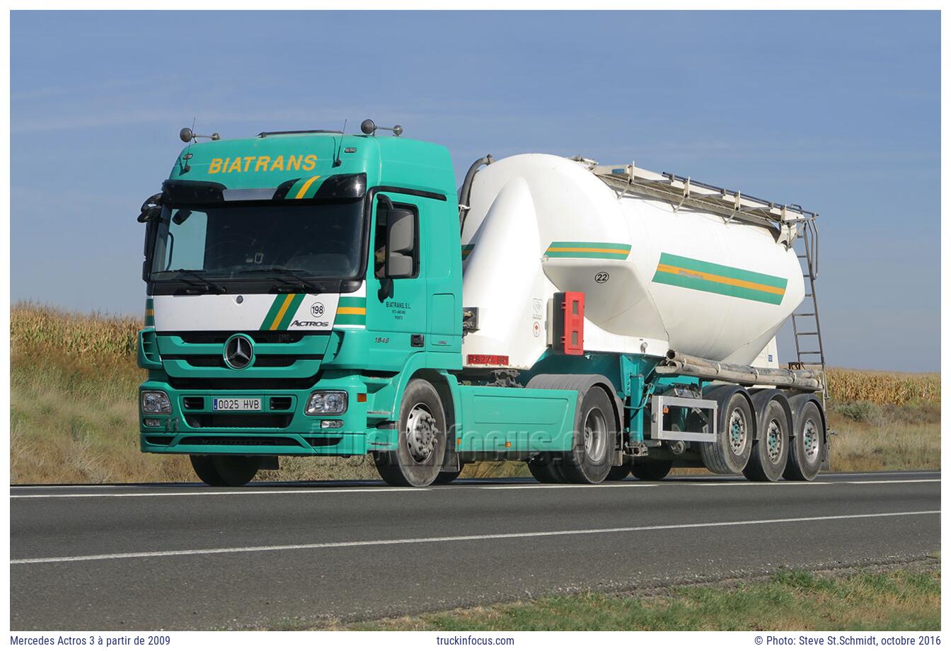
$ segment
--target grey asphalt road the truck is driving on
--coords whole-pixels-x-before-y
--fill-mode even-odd
[[[921,558],[938,472],[10,489],[13,630],[272,627]]]

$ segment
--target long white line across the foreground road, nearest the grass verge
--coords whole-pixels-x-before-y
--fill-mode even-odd
[[[157,551],[132,551],[118,554],[93,554],[90,556],[59,556],[50,558],[11,559],[10,565],[40,563],[73,563],[77,561],[108,561],[126,558],[158,558],[163,556],[203,556],[206,554],[239,554],[252,551],[287,551],[297,549],[330,549],[338,547],[369,547],[384,545],[419,545],[421,543],[458,543],[473,540],[500,540],[508,538],[543,538],[549,536],[578,536],[598,533],[628,533],[632,531],[657,531],[663,529],[690,529],[705,527],[742,527],[747,525],[776,525],[793,522],[816,522],[821,520],[855,520],[861,518],[894,518],[913,515],[934,515],[940,510],[896,511],[892,513],[857,513],[854,515],[819,515],[806,518],[774,518],[770,520],[737,520],[732,522],[701,522],[689,525],[653,525],[646,527],[611,527],[602,529],[565,529],[561,531],[528,531],[525,533],[487,533],[473,536],[437,536],[433,538],[398,538],[394,540],[359,540],[343,543],[309,543],[304,545],[266,545],[253,547],[213,547],[209,549],[170,549]]]

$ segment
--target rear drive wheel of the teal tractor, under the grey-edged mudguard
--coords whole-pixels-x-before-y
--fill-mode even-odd
[[[574,416],[574,446],[565,454],[561,471],[573,484],[600,484],[611,471],[617,431],[608,394],[592,387]]]

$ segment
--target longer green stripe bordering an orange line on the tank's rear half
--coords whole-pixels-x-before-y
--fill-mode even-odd
[[[760,274],[736,267],[728,267],[722,264],[714,264],[713,262],[706,262],[704,260],[683,258],[682,256],[674,256],[669,253],[661,254],[658,265],[660,264],[679,267],[686,271],[703,272],[724,278],[735,278],[737,280],[746,280],[747,282],[776,287],[777,289],[782,289],[783,294],[772,294],[748,287],[737,287],[736,285],[728,285],[708,278],[698,278],[696,276],[689,276],[688,274],[676,274],[668,271],[660,271],[659,269],[654,273],[654,277],[652,278],[653,282],[674,285],[699,292],[708,292],[710,294],[720,294],[727,297],[745,298],[747,300],[755,300],[772,305],[782,303],[783,297],[786,295],[786,284],[788,282],[786,278],[769,276],[767,274]]]

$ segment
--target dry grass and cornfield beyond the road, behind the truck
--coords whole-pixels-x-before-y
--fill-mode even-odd
[[[10,313],[10,481],[14,484],[194,481],[184,456],[138,448],[138,318],[77,315],[34,303]],[[64,354],[65,352],[65,354]],[[937,374],[829,371],[832,468],[937,469]],[[891,402],[889,406],[887,403]],[[871,408],[868,407],[871,405]],[[858,418],[858,419],[856,419]],[[686,469],[693,473],[703,470]],[[463,477],[525,476],[485,462]],[[368,457],[282,458],[262,480],[376,479]]]

